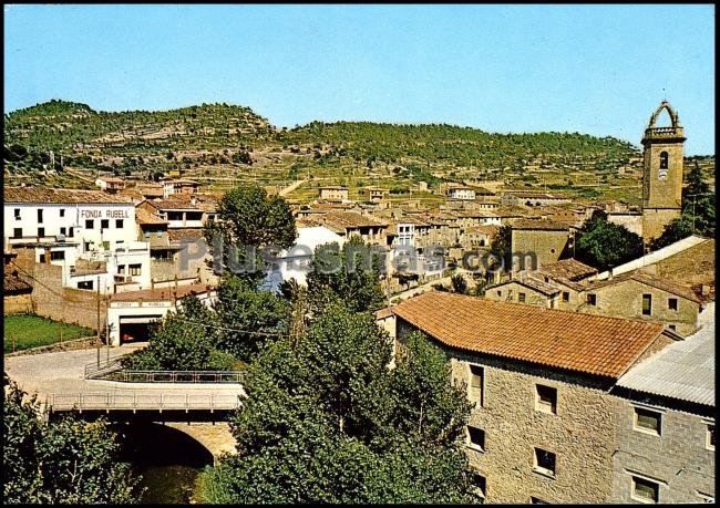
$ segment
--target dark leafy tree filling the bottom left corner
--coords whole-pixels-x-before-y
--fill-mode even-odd
[[[3,497],[8,504],[135,504],[138,478],[119,463],[103,421],[44,423],[34,397],[3,375]]]

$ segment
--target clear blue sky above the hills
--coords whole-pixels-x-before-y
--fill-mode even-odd
[[[714,153],[713,6],[4,6],[4,111],[226,102],[639,145],[667,99]]]

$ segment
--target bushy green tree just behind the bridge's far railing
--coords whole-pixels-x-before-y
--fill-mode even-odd
[[[137,371],[226,371],[235,357],[218,350],[215,312],[193,297],[155,325],[150,344],[125,356],[123,366]]]

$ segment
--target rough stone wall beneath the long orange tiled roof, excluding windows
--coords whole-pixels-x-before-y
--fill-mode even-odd
[[[402,342],[413,326],[398,322]],[[469,382],[469,363],[484,369],[483,405],[469,424],[485,432],[485,449],[465,449],[486,479],[487,502],[610,499],[617,401],[606,393],[607,381],[442,349],[456,383]],[[557,414],[535,408],[536,384],[557,390]],[[554,478],[534,470],[535,447],[556,454]]]

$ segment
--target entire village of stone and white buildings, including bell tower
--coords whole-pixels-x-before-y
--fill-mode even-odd
[[[464,450],[485,502],[714,502],[714,238],[658,246],[685,209],[686,138],[668,102],[641,134],[639,207],[471,182],[430,205],[320,185],[287,199],[297,237],[268,250],[261,289],[307,286],[322,246],[372,248],[392,363],[424,333],[474,405]],[[94,184],[3,188],[4,315],[91,329],[116,356],[152,344],[187,299],[217,302],[206,231],[223,195],[182,175]],[[263,191],[285,200],[301,185]],[[600,220],[636,234],[637,256],[578,260]]]

